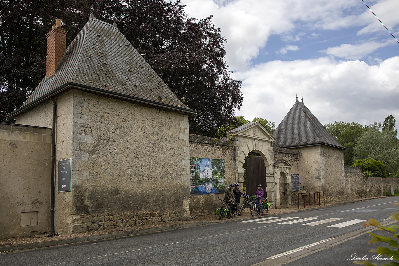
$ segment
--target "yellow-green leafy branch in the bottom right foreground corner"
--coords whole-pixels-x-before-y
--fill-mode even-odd
[[[399,202],[395,203],[395,205],[399,206]],[[399,221],[399,213],[393,213],[389,218],[394,219]],[[371,240],[369,243],[378,243],[378,242],[385,242],[389,244],[389,246],[392,248],[385,248],[382,246],[379,246],[377,249],[372,249],[370,252],[375,252],[378,253],[378,255],[384,255],[386,259],[391,259],[392,260],[399,260],[399,232],[397,233],[396,230],[399,230],[399,225],[391,225],[390,227],[385,227],[383,225],[380,225],[377,221],[374,219],[370,219],[368,221],[365,221],[364,224],[361,227],[365,227],[366,225],[371,225],[373,227],[376,227],[377,230],[384,230],[392,234],[393,238],[386,237],[386,236],[380,236],[377,234],[369,233],[371,236]],[[376,256],[377,258],[379,256]],[[356,264],[360,265],[366,265],[366,266],[377,266],[375,263],[371,263],[367,260],[365,261],[356,261],[354,262]],[[399,262],[388,262],[382,264],[382,266],[399,266]]]

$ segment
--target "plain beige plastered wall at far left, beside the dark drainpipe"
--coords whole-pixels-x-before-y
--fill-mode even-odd
[[[51,128],[0,123],[0,150],[0,238],[49,233]]]

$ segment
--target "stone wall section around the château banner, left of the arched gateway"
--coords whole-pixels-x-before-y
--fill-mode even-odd
[[[190,135],[190,156],[225,160],[225,183],[228,185],[238,182],[235,177],[234,146],[231,142],[205,136]],[[225,189],[227,189],[227,185]],[[218,197],[224,199],[224,193],[191,195],[191,216],[197,217],[215,213],[215,210],[221,205],[217,199]]]

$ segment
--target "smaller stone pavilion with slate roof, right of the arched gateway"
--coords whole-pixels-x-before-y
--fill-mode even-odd
[[[300,102],[296,97],[273,136],[277,139],[275,159],[286,160],[290,173],[299,174],[300,192],[324,191],[337,201],[345,199],[343,152],[346,148],[324,128],[303,99]]]

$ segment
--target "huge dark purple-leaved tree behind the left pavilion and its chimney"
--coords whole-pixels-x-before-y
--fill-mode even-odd
[[[45,34],[55,18],[68,31],[67,45],[87,22],[90,1],[18,0],[0,3],[0,122],[20,107],[45,75]],[[242,106],[241,81],[231,78],[224,43],[212,16],[196,20],[184,14],[180,0],[93,2],[95,17],[112,23],[131,41],[172,91],[188,107],[190,133],[216,136]],[[12,122],[12,121],[9,121]]]

